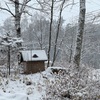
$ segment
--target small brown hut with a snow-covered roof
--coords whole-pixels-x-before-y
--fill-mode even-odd
[[[44,50],[23,50],[19,52],[18,61],[23,64],[24,73],[36,73],[45,70],[47,55]]]

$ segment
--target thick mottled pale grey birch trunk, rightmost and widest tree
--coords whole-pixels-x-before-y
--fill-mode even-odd
[[[82,51],[84,23],[85,23],[85,11],[86,11],[85,0],[80,0],[79,29],[77,33],[76,51],[74,56],[74,64],[77,67],[80,67],[80,61],[81,61],[81,51]]]

